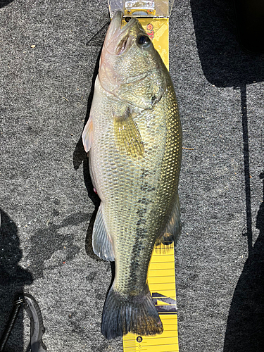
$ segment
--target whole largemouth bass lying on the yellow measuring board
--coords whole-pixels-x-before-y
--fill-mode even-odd
[[[154,335],[163,324],[147,282],[155,244],[179,237],[182,127],[170,74],[137,18],[108,27],[82,142],[101,203],[94,253],[115,260],[101,333]]]

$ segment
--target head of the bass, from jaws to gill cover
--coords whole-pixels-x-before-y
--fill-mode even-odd
[[[152,108],[165,91],[166,70],[137,18],[122,27],[117,11],[101,52],[99,81],[103,89],[130,105]]]

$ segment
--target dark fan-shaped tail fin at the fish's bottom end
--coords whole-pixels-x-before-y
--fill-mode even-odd
[[[163,332],[151,294],[123,297],[113,287],[108,292],[103,307],[101,332],[106,339],[115,339],[128,332],[139,335],[155,335]]]

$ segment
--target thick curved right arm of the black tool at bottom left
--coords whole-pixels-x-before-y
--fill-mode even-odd
[[[46,346],[42,341],[45,328],[42,313],[37,301],[30,294],[24,294],[23,307],[30,317],[30,347],[32,352],[46,352]]]

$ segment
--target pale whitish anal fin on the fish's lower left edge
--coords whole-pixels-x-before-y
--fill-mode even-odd
[[[94,229],[92,234],[92,244],[96,256],[103,260],[115,260],[111,239],[106,230],[106,224],[103,219],[102,205],[99,206],[94,221]]]

